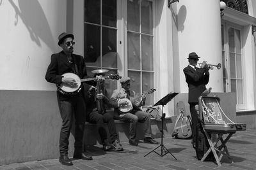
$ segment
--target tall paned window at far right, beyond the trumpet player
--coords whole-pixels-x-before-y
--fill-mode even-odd
[[[243,55],[241,29],[233,25],[221,25],[224,92],[236,92],[239,109],[244,104]]]

